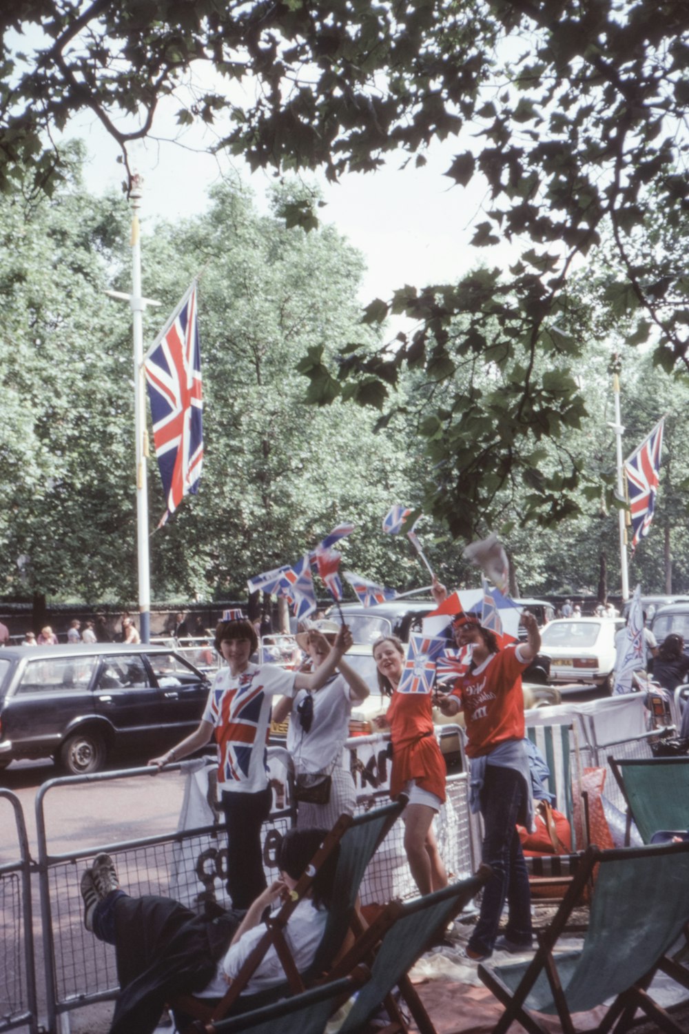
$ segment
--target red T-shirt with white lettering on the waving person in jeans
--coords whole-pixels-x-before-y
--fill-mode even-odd
[[[467,754],[480,758],[506,739],[524,739],[524,694],[520,661],[514,646],[492,653],[473,671],[455,682],[467,728]]]

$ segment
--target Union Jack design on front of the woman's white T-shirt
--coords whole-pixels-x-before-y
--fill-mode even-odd
[[[240,676],[236,690],[214,690],[211,711],[216,728],[222,730],[220,770],[225,783],[241,783],[249,778],[251,755],[263,704],[263,687],[252,686],[257,672]],[[217,717],[216,717],[217,716]]]

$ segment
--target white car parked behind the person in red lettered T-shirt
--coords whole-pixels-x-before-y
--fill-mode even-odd
[[[559,617],[541,630],[552,682],[590,682],[613,690],[615,633],[622,618]]]

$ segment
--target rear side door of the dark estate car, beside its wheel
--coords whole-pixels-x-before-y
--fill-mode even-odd
[[[162,695],[154,683],[144,651],[118,651],[101,658],[94,708],[115,734],[114,746],[127,752],[150,752],[169,740],[164,730]]]

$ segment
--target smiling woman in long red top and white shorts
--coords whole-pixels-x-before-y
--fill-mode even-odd
[[[405,808],[404,849],[420,893],[428,894],[447,885],[447,874],[438,853],[433,819],[445,800],[445,762],[435,737],[429,693],[400,693],[405,650],[397,636],[386,636],[373,644],[381,693],[392,697],[385,717],[377,718],[378,728],[389,728],[393,743],[390,797],[401,793]]]

